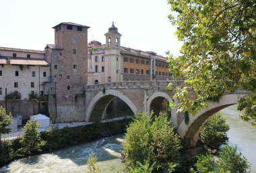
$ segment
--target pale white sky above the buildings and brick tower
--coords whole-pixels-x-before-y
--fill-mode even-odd
[[[114,22],[121,46],[178,56],[182,43],[169,14],[166,0],[0,0],[0,46],[44,50],[54,44],[52,28],[61,22],[90,26],[88,42],[105,44]]]

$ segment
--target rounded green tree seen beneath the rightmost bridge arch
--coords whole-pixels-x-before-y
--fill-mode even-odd
[[[214,114],[203,125],[199,139],[206,147],[217,149],[222,143],[228,140],[226,133],[229,129],[230,127],[226,124],[226,120],[220,114]]]

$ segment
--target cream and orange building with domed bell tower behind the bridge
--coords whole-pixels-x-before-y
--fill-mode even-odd
[[[88,44],[88,84],[170,79],[166,57],[121,46],[114,23],[105,36],[104,45],[95,40]]]

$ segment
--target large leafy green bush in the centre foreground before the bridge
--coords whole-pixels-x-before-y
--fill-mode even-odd
[[[146,113],[135,114],[127,128],[123,150],[128,166],[144,163],[150,158],[154,170],[173,172],[181,160],[181,141],[171,127],[171,121],[162,113],[150,118]],[[146,163],[144,163],[146,164]]]

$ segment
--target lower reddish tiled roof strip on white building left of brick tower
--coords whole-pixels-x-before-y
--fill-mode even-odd
[[[0,59],[0,64],[10,64],[10,65],[49,65],[43,59]]]

